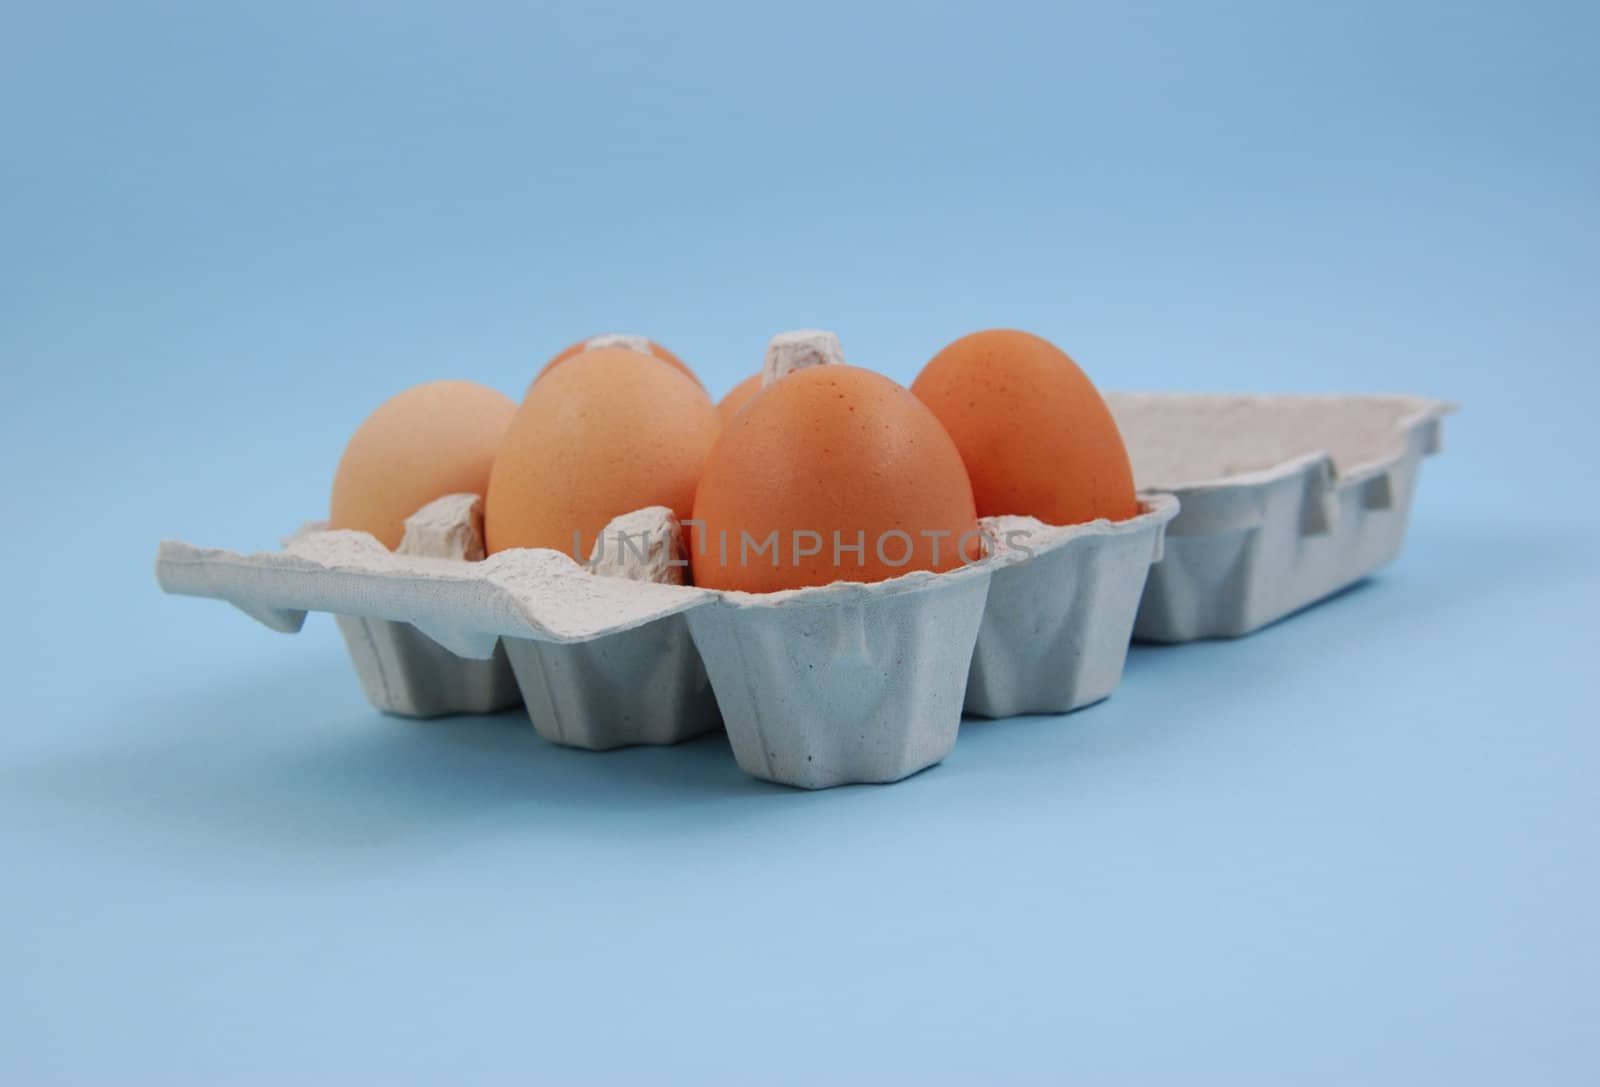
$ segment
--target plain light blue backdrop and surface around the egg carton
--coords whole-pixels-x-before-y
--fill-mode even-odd
[[[1594,5],[8,5],[0,1081],[1600,1081]],[[1403,557],[893,788],[163,597],[437,376],[1456,399]]]

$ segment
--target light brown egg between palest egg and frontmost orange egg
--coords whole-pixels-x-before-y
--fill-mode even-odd
[[[528,392],[506,432],[483,503],[488,551],[582,560],[619,514],[688,517],[720,431],[706,391],[672,367],[622,347],[579,354]]]

